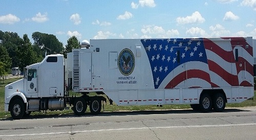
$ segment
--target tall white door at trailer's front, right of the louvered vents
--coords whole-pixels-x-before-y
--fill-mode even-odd
[[[92,53],[79,52],[79,88],[92,87]]]

